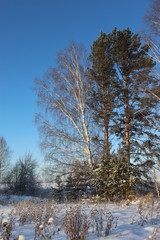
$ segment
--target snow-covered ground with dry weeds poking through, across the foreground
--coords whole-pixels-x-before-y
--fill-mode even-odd
[[[11,226],[9,239],[16,239],[20,233],[25,240],[49,239],[49,235],[50,239],[72,239],[75,226],[79,227],[81,237],[86,235],[81,239],[160,239],[160,204],[151,195],[118,204],[91,201],[57,204],[16,196],[7,203],[0,205],[0,239],[2,233],[6,234],[4,221]]]

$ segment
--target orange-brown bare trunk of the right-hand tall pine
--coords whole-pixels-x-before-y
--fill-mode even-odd
[[[126,164],[128,167],[128,172],[130,171],[130,142],[129,142],[129,98],[128,98],[128,85],[127,76],[125,75],[125,114],[126,114],[126,126],[125,126],[125,138],[126,138]]]

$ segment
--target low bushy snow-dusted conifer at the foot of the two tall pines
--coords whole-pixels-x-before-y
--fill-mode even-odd
[[[128,175],[125,164],[125,155],[122,149],[118,153],[112,153],[106,161],[101,159],[101,164],[96,169],[97,193],[108,200],[127,199],[133,192],[133,179]]]

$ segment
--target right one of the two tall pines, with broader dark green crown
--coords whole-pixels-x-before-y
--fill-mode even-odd
[[[151,111],[149,104],[141,108],[144,98],[142,89],[154,82],[151,71],[155,63],[148,56],[148,45],[142,46],[138,34],[133,34],[129,28],[123,31],[114,29],[112,35],[114,61],[121,81],[121,108],[117,126],[122,128],[117,129],[117,133],[125,138],[125,159],[129,172],[131,151],[135,152],[135,138],[143,134],[145,118],[150,114],[146,110]]]

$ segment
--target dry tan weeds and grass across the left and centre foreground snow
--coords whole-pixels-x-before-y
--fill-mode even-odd
[[[66,204],[57,205],[54,201],[18,201],[10,205],[10,213],[7,217],[7,225],[3,226],[4,217],[1,216],[0,237],[3,240],[18,239],[14,236],[15,223],[19,226],[34,224],[34,240],[53,239],[55,233],[63,231],[66,238],[71,240],[87,239],[88,230],[95,232],[97,239],[100,236],[108,236],[113,227],[114,217],[110,212],[104,212],[94,205],[89,209],[88,216],[85,213],[86,205],[77,204],[69,207]]]

